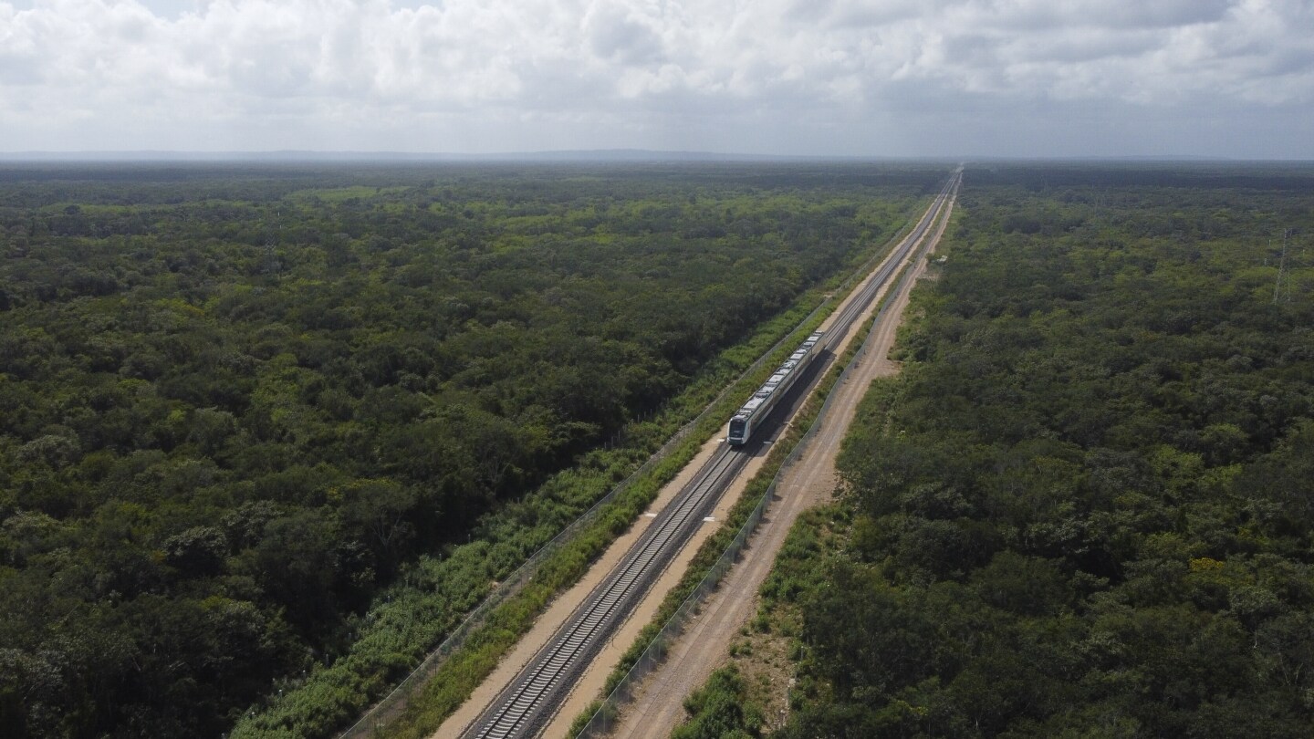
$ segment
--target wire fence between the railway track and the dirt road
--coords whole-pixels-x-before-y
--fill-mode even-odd
[[[921,250],[918,250],[918,254],[920,251]],[[915,256],[915,259],[917,259],[917,256]],[[897,295],[904,283],[908,280],[912,264],[913,263],[909,262],[908,267],[904,267],[894,289],[886,293],[880,309],[875,314],[875,322],[884,318],[890,308],[891,297]],[[836,380],[834,387],[840,387],[849,380],[849,372],[855,370],[859,360],[866,356],[872,335],[875,335],[875,331],[870,331],[862,341],[862,345],[853,352],[849,363],[840,373],[838,380]],[[735,535],[735,540],[725,547],[725,551],[721,552],[721,556],[715,564],[712,564],[711,569],[708,569],[707,575],[698,584],[698,586],[694,588],[694,592],[685,598],[675,613],[662,626],[661,631],[653,636],[652,642],[648,643],[648,648],[644,650],[644,654],[639,656],[633,667],[629,668],[629,672],[627,672],[616,688],[612,689],[611,694],[603,700],[602,705],[593,714],[593,718],[589,719],[589,723],[586,723],[579,734],[576,735],[576,739],[607,736],[611,734],[611,730],[616,727],[620,717],[620,709],[629,702],[635,688],[643,681],[644,677],[648,676],[648,673],[658,668],[662,661],[665,661],[670,644],[679,638],[690,618],[698,615],[707,597],[720,586],[725,573],[735,567],[736,561],[738,561],[740,554],[742,554],[744,548],[748,546],[749,539],[753,538],[758,523],[762,522],[762,517],[766,515],[767,509],[771,506],[771,501],[775,500],[777,488],[781,485],[782,480],[784,480],[790,468],[798,463],[798,460],[803,456],[803,452],[807,451],[812,438],[821,430],[827,414],[830,410],[830,402],[834,397],[836,393],[833,392],[827,396],[825,402],[821,404],[821,409],[817,410],[817,416],[816,419],[813,419],[812,426],[808,427],[807,433],[803,434],[803,438],[799,439],[799,442],[790,451],[788,456],[784,458],[784,462],[781,463],[781,468],[771,479],[771,484],[767,485],[761,500],[758,500],[757,505],[753,506],[753,512],[749,513],[748,519],[742,526],[740,526],[738,534]]]

